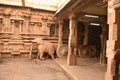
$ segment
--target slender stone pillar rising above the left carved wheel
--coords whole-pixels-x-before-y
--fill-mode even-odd
[[[59,41],[58,41],[58,46],[63,44],[63,20],[59,20]]]

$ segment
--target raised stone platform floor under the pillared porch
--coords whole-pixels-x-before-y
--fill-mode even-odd
[[[99,64],[99,59],[78,58],[76,66],[68,66],[66,59],[55,61],[73,80],[105,80],[106,65]]]

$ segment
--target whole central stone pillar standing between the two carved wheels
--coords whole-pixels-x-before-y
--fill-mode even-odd
[[[77,64],[77,18],[75,15],[70,15],[69,17],[69,42],[68,42],[68,65],[76,65]]]

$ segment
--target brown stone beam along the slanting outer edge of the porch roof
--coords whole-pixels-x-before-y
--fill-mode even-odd
[[[95,5],[96,3],[101,2],[102,0],[77,0],[71,1],[68,5],[66,5],[59,13],[56,15],[64,16],[64,18],[69,17],[66,13],[81,13],[84,9]]]

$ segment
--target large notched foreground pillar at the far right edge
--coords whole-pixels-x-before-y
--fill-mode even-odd
[[[120,19],[113,3],[116,0],[108,1],[108,24],[109,24],[109,40],[107,41],[107,72],[105,80],[119,80],[119,75],[116,74],[117,69],[115,55],[118,54],[120,49]],[[115,6],[115,5],[114,5]],[[120,8],[120,6],[119,6]],[[117,20],[119,19],[119,20]],[[119,53],[120,54],[120,53]],[[120,58],[120,56],[118,56]],[[117,69],[117,70],[116,70]]]

